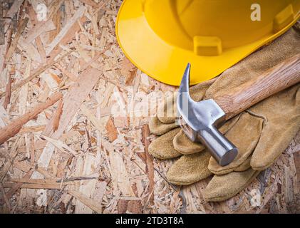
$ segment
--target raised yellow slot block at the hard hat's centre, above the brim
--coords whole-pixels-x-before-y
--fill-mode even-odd
[[[194,36],[194,52],[197,56],[219,56],[222,41],[217,36]]]

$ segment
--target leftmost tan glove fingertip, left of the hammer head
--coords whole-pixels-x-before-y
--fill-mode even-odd
[[[174,157],[179,157],[182,155],[180,152],[177,152],[173,147],[173,138],[180,131],[180,128],[175,128],[170,130],[165,135],[160,136],[159,138],[153,140],[149,147],[149,153],[154,157],[159,159],[171,159]]]

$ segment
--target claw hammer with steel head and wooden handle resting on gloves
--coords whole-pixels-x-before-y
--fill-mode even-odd
[[[202,142],[221,166],[229,165],[238,149],[217,128],[269,96],[300,82],[300,54],[270,68],[226,95],[196,102],[189,93],[190,63],[180,83],[177,110],[180,126],[193,142]]]

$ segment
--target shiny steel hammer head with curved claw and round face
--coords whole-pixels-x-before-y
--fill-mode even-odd
[[[228,165],[237,156],[237,147],[222,135],[219,128],[225,121],[225,113],[212,99],[196,102],[190,97],[190,63],[180,83],[177,109],[180,126],[193,142],[202,142],[219,165]]]

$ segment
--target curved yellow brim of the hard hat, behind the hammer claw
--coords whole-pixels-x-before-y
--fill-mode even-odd
[[[120,48],[135,66],[157,81],[179,86],[187,63],[191,63],[191,85],[207,81],[280,36],[298,19],[299,14],[281,31],[254,43],[223,50],[219,56],[197,56],[193,51],[166,43],[152,31],[145,19],[142,4],[134,0],[123,1],[115,29]]]

